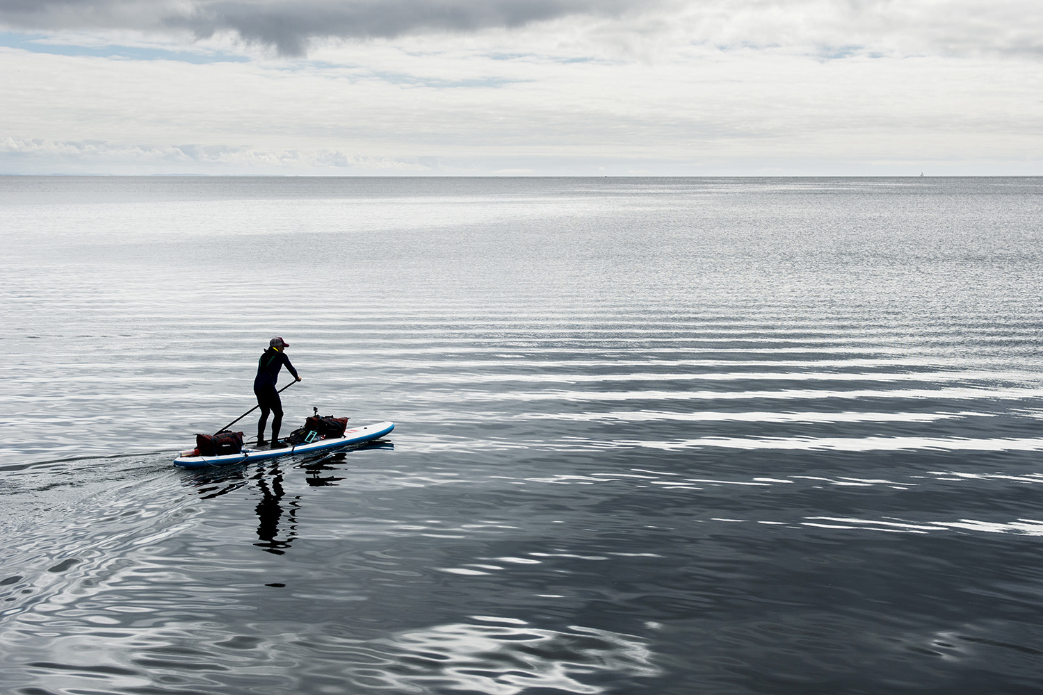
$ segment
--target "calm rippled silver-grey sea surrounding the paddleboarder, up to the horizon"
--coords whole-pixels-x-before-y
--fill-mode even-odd
[[[0,178],[0,692],[1039,693],[1041,221],[1040,178]],[[274,336],[284,430],[394,432],[173,467]]]

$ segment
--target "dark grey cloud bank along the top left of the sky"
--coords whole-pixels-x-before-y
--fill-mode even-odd
[[[518,27],[569,15],[616,17],[648,0],[0,0],[0,24],[19,29],[234,32],[302,55],[313,39],[391,39],[428,31]]]

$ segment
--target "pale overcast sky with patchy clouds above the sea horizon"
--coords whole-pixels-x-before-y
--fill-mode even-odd
[[[1040,0],[0,0],[0,174],[1043,175]]]

